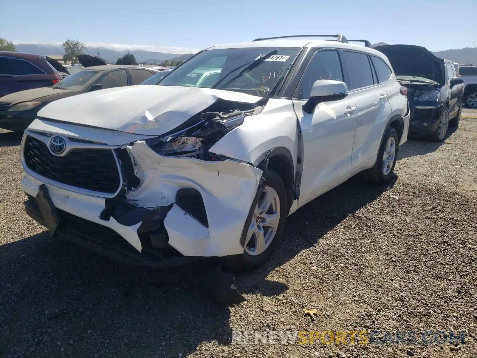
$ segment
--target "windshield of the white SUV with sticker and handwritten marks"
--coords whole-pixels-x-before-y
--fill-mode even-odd
[[[300,48],[239,48],[198,53],[158,85],[193,86],[266,95],[290,69]],[[266,58],[265,55],[270,54]],[[214,75],[199,81],[203,74]]]

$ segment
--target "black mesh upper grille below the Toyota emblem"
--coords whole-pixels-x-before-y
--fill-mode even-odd
[[[41,140],[27,136],[24,158],[35,173],[73,187],[115,193],[121,183],[111,149],[73,149],[57,157]]]

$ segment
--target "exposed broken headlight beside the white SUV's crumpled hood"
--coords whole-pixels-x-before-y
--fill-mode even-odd
[[[198,122],[175,133],[146,139],[145,143],[162,156],[204,159],[208,149],[245,119],[242,111],[204,113]]]

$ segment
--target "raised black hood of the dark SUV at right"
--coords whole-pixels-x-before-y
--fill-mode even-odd
[[[396,76],[416,76],[445,84],[444,60],[422,46],[383,45],[374,47],[386,55]]]

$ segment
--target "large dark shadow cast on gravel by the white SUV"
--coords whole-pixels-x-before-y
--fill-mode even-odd
[[[241,293],[277,295],[274,268],[316,244],[347,216],[394,185],[350,180],[288,218],[283,241],[263,268],[237,277]],[[326,258],[323,258],[326,260]],[[178,357],[212,340],[232,341],[230,311],[188,277],[117,263],[42,232],[0,246],[0,356]],[[92,343],[93,342],[93,343]]]

